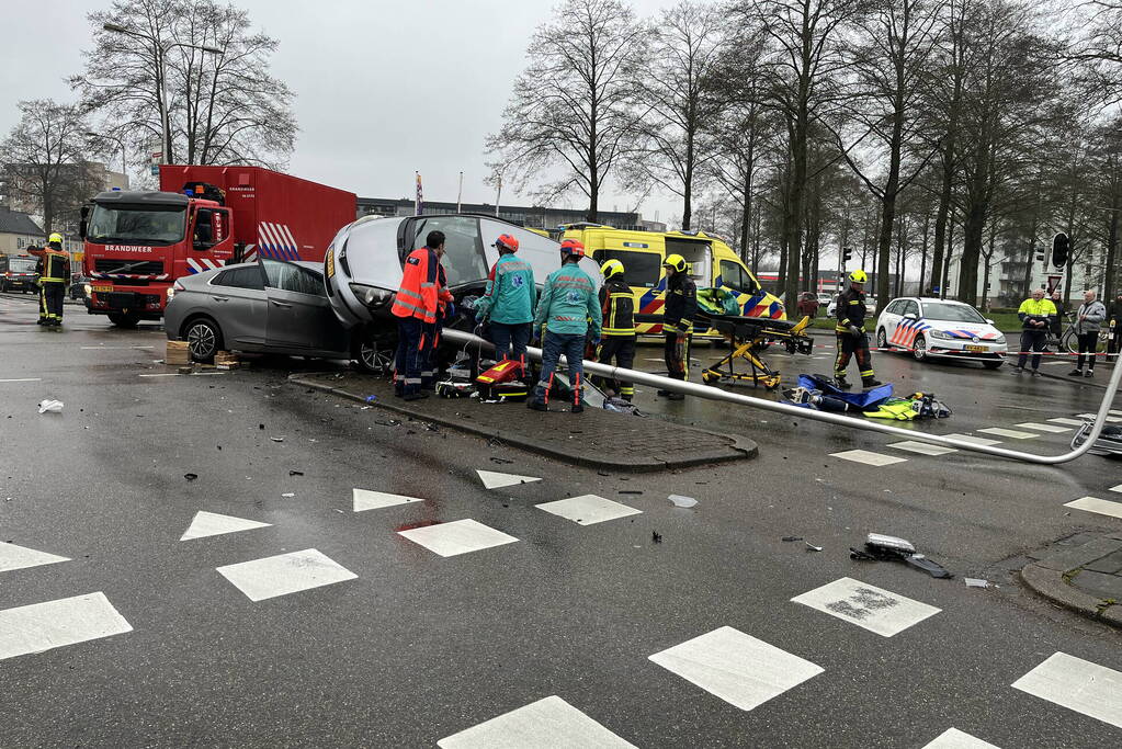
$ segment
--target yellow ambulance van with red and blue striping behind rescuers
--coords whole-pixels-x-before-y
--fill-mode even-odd
[[[741,314],[747,317],[787,320],[778,297],[763,289],[752,271],[720,238],[700,231],[628,231],[599,224],[562,225],[550,232],[560,241],[578,239],[597,263],[619,260],[627,284],[635,294],[635,312],[661,315],[665,304],[666,277],[662,263],[668,255],[680,255],[690,266],[690,277],[698,288],[724,288],[736,295]],[[662,324],[637,322],[640,335],[661,335]],[[705,337],[719,337],[714,330]]]

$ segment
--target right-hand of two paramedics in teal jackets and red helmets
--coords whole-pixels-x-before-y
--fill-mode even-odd
[[[558,361],[564,354],[569,362],[569,382],[572,387],[572,413],[585,410],[580,387],[585,368],[586,341],[600,342],[600,300],[596,283],[580,267],[585,246],[574,239],[561,242],[561,268],[545,279],[542,298],[534,315],[534,330],[545,326],[542,334],[542,376],[527,408],[549,410],[550,388]]]

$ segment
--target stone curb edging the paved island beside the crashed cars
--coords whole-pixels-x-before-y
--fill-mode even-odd
[[[519,450],[525,450],[526,452],[536,453],[539,455],[544,455],[546,457],[552,457],[564,463],[580,465],[583,468],[599,469],[599,470],[614,470],[624,471],[629,473],[652,473],[657,471],[671,471],[677,469],[696,468],[699,465],[711,465],[714,463],[728,463],[732,461],[739,460],[751,460],[760,454],[760,446],[752,440],[747,437],[742,437],[735,434],[723,434],[718,432],[709,432],[707,429],[699,429],[693,426],[682,426],[680,424],[674,424],[675,428],[683,429],[686,432],[700,432],[711,436],[719,436],[726,440],[730,440],[733,444],[730,450],[739,454],[724,455],[719,457],[693,457],[684,460],[674,461],[660,461],[660,460],[598,460],[588,455],[572,455],[570,453],[555,450],[549,445],[527,442],[524,435],[512,436],[504,433],[502,429],[484,427],[476,424],[466,424],[461,420],[442,418],[439,416],[433,416],[431,414],[425,414],[419,410],[413,410],[397,404],[386,403],[378,399],[373,403],[367,403],[365,398],[356,396],[353,394],[347,392],[340,388],[333,388],[328,385],[321,385],[313,380],[305,380],[305,377],[314,377],[315,374],[324,374],[328,372],[298,372],[296,374],[289,374],[288,381],[295,382],[301,387],[312,388],[313,390],[319,390],[320,392],[329,392],[341,398],[347,398],[348,400],[353,400],[364,405],[374,406],[376,408],[384,408],[385,410],[394,412],[395,414],[401,414],[403,416],[408,416],[411,418],[421,419],[424,422],[431,422],[433,424],[439,424],[443,427],[451,429],[457,429],[466,434],[470,434],[477,437],[486,437],[488,440],[502,440],[508,446],[517,447]]]

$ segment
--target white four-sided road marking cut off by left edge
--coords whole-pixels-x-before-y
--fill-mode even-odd
[[[131,632],[104,593],[0,611],[0,660]]]

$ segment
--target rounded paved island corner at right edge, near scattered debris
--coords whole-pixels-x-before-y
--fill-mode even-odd
[[[1078,534],[1028,555],[1021,579],[1045,598],[1122,627],[1122,533]]]

